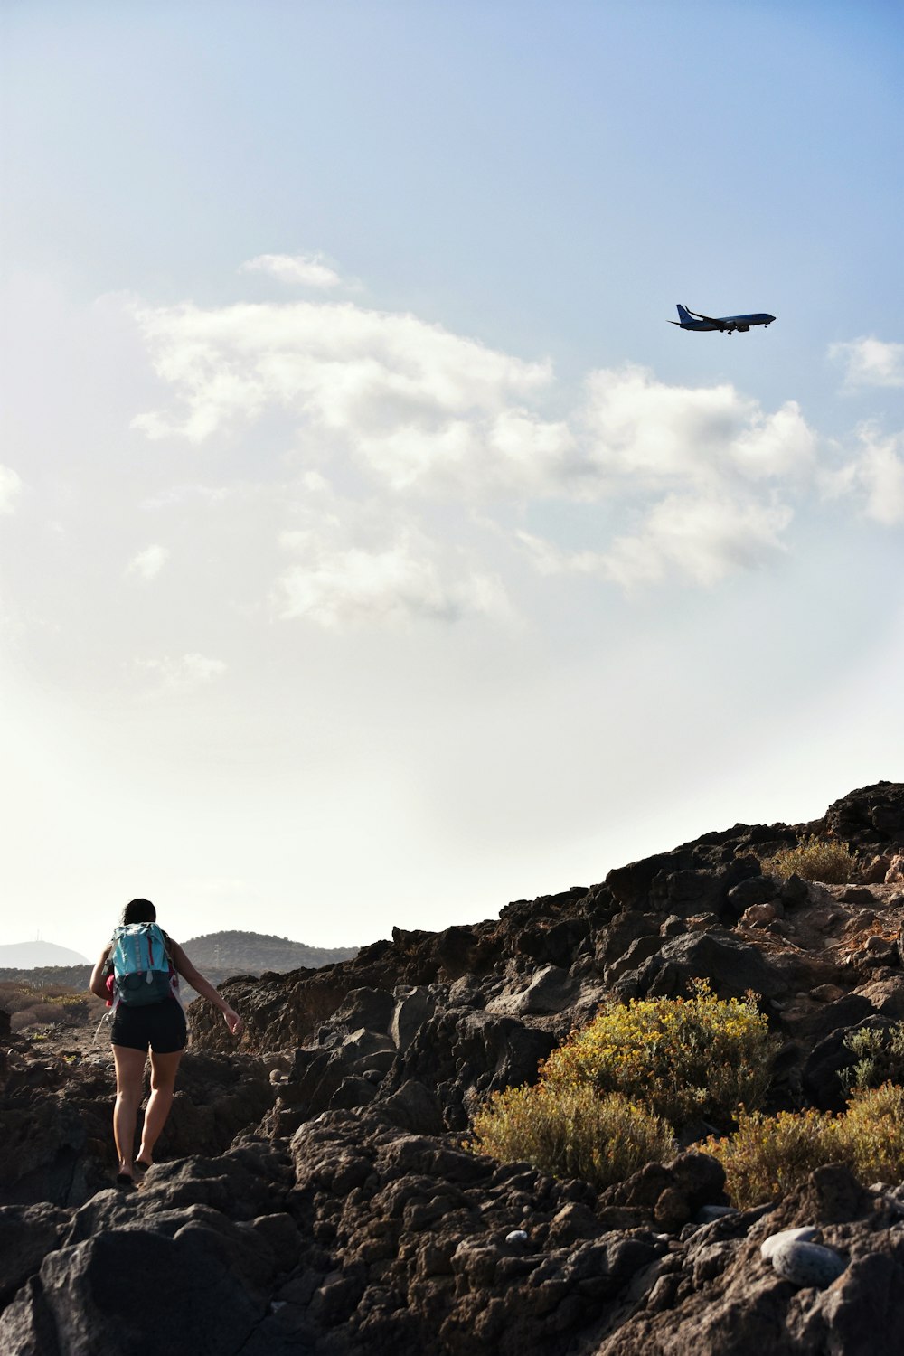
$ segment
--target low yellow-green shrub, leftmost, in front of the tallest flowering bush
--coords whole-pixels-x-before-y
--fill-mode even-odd
[[[523,1159],[554,1177],[583,1177],[596,1188],[676,1151],[668,1125],[628,1097],[545,1083],[495,1093],[474,1117],[468,1147],[503,1162]]]

